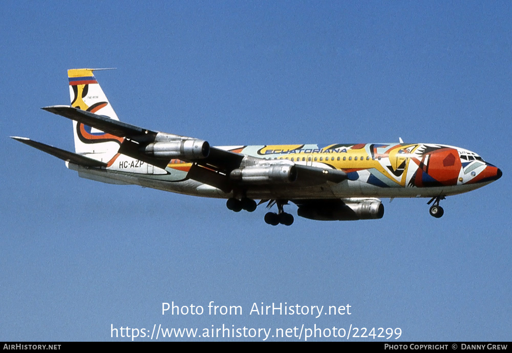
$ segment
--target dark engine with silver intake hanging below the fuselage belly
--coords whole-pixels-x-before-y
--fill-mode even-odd
[[[301,206],[297,215],[319,221],[351,221],[358,219],[379,219],[384,215],[380,201],[346,202],[339,207]]]

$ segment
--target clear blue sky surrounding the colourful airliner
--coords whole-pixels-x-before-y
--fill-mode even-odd
[[[111,324],[316,324],[399,327],[396,341],[510,340],[509,2],[0,10],[0,339],[112,340]],[[265,224],[263,207],[235,214],[223,200],[80,179],[8,136],[73,150],[71,122],[39,108],[69,104],[66,70],[83,67],[118,68],[96,77],[138,126],[217,146],[445,143],[503,177],[442,201],[440,219],[427,200],[385,199],[381,220],[295,217],[290,227]],[[243,314],[162,316],[172,301]],[[249,315],[261,302],[350,304],[352,314]]]

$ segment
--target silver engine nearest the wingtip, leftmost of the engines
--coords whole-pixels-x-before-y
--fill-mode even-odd
[[[159,141],[148,144],[142,152],[148,156],[162,159],[203,159],[210,154],[210,144],[206,141],[195,139]]]

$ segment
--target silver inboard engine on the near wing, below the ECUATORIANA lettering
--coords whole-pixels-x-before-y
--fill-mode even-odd
[[[295,165],[268,165],[238,168],[229,174],[231,180],[251,184],[291,183],[297,179]]]

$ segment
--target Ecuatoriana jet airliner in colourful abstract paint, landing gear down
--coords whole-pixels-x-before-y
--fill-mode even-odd
[[[334,143],[212,147],[206,140],[141,128],[119,120],[94,71],[68,70],[70,106],[41,108],[73,121],[75,152],[25,137],[11,138],[66,162],[82,178],[136,184],[180,194],[227,199],[229,210],[266,213],[291,225],[284,211],[313,220],[380,219],[380,198],[430,198],[440,218],[446,196],[502,176],[478,154],[436,143]],[[260,200],[257,203],[255,200]]]

